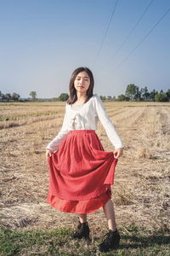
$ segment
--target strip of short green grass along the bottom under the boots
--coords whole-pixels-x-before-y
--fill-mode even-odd
[[[135,224],[120,229],[120,247],[108,253],[100,253],[98,244],[102,238],[94,236],[94,241],[71,240],[71,229],[55,230],[0,230],[0,255],[169,255],[169,237],[161,234],[151,235]],[[104,236],[104,234],[102,234]]]

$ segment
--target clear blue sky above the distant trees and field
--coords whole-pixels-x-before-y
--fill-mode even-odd
[[[167,91],[168,9],[169,0],[0,0],[0,90],[69,94],[71,73],[88,67],[99,96],[127,84]]]

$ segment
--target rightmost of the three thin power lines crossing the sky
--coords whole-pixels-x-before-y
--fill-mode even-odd
[[[130,55],[133,54],[133,52],[135,51],[135,49],[139,48],[139,45],[142,44],[144,42],[144,40],[150,35],[150,33],[156,28],[156,26],[158,26],[158,24],[161,22],[161,20],[163,20],[165,18],[165,16],[168,14],[168,12],[170,11],[170,8],[167,9],[167,11],[161,16],[161,18],[156,22],[156,24],[154,26],[151,27],[150,31],[146,33],[146,35],[144,36],[144,38],[142,38],[139,41],[139,44],[137,44],[131,51],[130,53],[126,56],[126,58],[121,61],[111,72],[113,73],[118,67],[120,67],[125,61],[127,61],[127,59],[129,58]]]

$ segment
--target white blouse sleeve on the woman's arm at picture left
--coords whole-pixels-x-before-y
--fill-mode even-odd
[[[68,127],[68,113],[67,113],[67,106],[65,105],[65,116],[63,119],[62,127],[58,135],[54,137],[54,139],[50,143],[48,143],[48,146],[46,147],[46,149],[50,149],[52,151],[59,149],[59,144],[64,140],[65,136],[69,132],[67,127]]]

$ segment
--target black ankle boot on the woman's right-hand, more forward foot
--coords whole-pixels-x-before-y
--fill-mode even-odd
[[[106,236],[106,237],[105,237]],[[119,246],[119,241],[121,236],[117,229],[115,231],[109,230],[107,234],[105,234],[105,240],[99,244],[100,252],[109,252],[111,249],[116,249]]]

